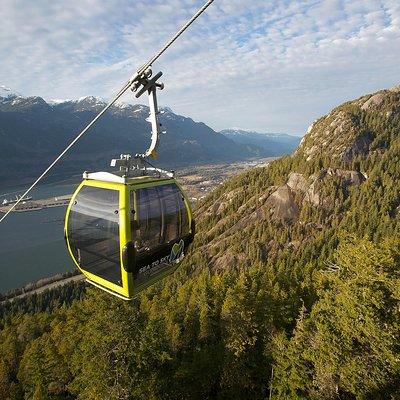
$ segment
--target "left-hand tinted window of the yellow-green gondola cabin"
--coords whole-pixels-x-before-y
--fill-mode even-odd
[[[121,285],[119,192],[83,186],[71,207],[68,236],[81,268]]]

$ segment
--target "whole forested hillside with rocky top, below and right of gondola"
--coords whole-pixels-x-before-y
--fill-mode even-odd
[[[0,398],[400,398],[399,132],[400,87],[345,103],[199,203],[134,302],[8,306]]]

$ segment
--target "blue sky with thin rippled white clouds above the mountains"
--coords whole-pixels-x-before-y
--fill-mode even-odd
[[[203,3],[2,0],[0,85],[109,99]],[[215,0],[153,69],[159,104],[178,114],[303,135],[334,106],[400,84],[400,1]]]

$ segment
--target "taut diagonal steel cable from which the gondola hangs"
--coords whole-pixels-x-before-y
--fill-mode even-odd
[[[146,72],[147,68],[154,63],[179,36],[207,9],[214,0],[208,0],[189,21],[158,51],[148,62],[146,62],[138,71],[132,75],[130,80],[122,87],[118,94],[111,100],[96,117],[75,137],[75,139],[60,153],[60,155],[45,169],[45,171],[33,182],[33,184],[25,191],[25,193],[7,210],[0,218],[0,223],[13,211],[17,205],[26,197],[27,194],[44,178],[45,175],[57,164],[57,162],[74,146],[74,144],[97,122],[97,120]]]

